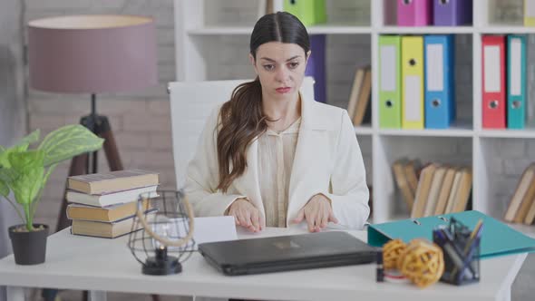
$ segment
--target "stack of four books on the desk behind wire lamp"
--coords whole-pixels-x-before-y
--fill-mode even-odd
[[[141,195],[143,210],[156,209],[151,199],[158,196],[158,173],[120,170],[73,176],[67,179],[67,218],[73,220],[71,233],[99,238],[117,238],[130,233]]]

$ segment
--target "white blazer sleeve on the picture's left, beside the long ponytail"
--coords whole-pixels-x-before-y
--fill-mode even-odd
[[[211,112],[200,135],[197,150],[186,171],[185,192],[195,216],[222,216],[238,194],[222,193],[219,184],[217,126],[219,108]]]

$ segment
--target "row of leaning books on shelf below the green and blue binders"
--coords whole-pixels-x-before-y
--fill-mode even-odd
[[[423,218],[464,211],[472,192],[472,169],[428,163],[419,160],[396,160],[394,179],[401,190],[411,218]]]

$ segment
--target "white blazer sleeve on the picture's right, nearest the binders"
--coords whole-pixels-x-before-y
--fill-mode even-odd
[[[365,164],[356,141],[355,128],[345,110],[342,114],[330,184],[330,193],[323,194],[331,199],[338,223],[348,228],[364,228],[370,215]]]

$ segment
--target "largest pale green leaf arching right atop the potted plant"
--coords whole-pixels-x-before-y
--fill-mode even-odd
[[[46,135],[39,150],[44,151],[44,167],[48,167],[85,152],[100,150],[103,141],[82,125],[73,124]]]

